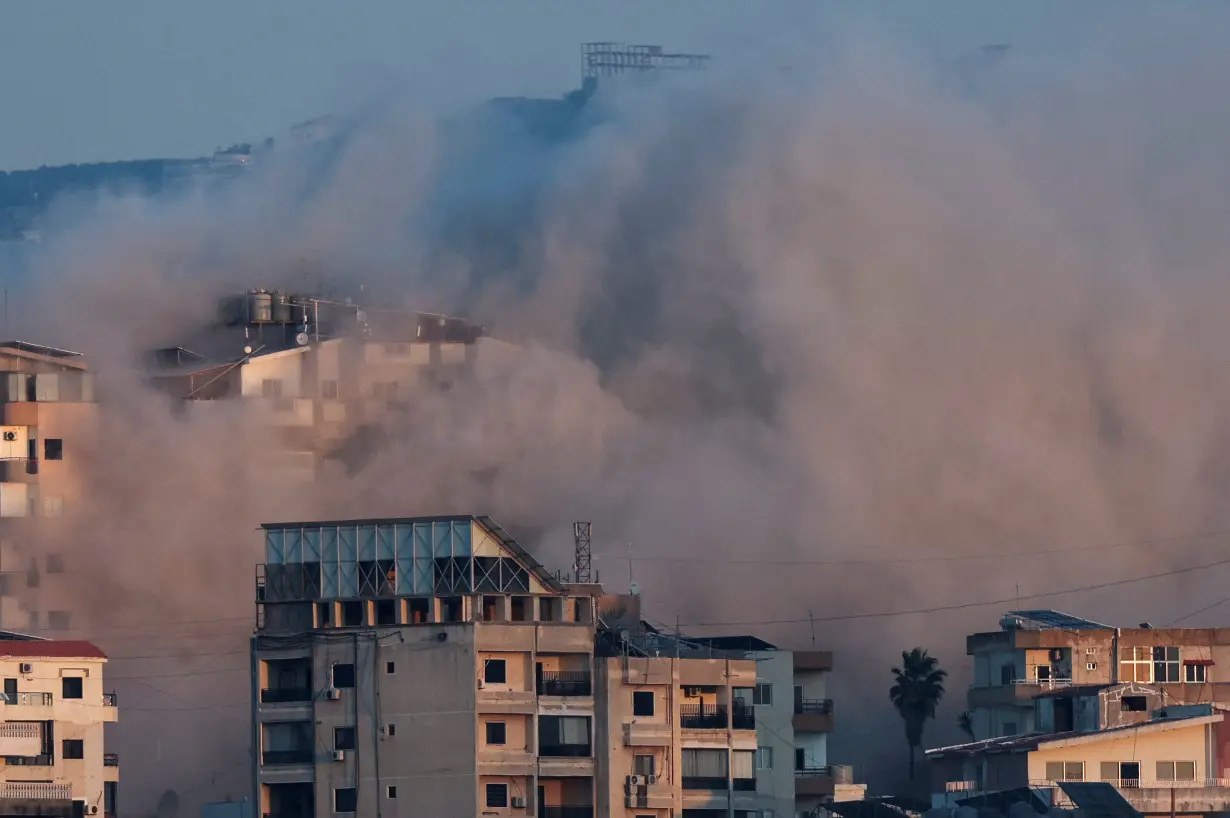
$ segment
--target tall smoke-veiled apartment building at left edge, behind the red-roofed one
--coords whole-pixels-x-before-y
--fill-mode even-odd
[[[92,439],[96,408],[79,353],[0,342],[0,627],[71,627],[54,602],[68,598],[57,588],[63,557],[34,544],[81,497],[74,463]]]

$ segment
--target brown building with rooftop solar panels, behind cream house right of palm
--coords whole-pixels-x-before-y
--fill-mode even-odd
[[[973,633],[967,695],[975,739],[1032,733],[1033,699],[1070,685],[1157,685],[1168,704],[1230,704],[1230,629],[1113,627],[1054,610],[1010,611]]]

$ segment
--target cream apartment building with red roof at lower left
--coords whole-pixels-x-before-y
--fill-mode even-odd
[[[119,711],[106,662],[90,642],[0,632],[0,812],[49,814],[73,801],[82,814],[116,814],[119,759],[103,727]]]

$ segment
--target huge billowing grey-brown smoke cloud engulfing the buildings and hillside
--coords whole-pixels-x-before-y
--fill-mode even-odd
[[[245,791],[269,518],[485,512],[544,530],[555,566],[592,519],[603,581],[635,576],[657,621],[835,648],[831,760],[881,781],[894,654],[953,673],[929,733],[952,738],[963,636],[1007,606],[977,603],[1135,624],[1214,602],[1215,570],[1036,600],[1220,555],[1197,536],[1230,488],[1212,22],[1014,54],[975,97],[860,33],[786,75],[603,90],[551,144],[383,103],[328,156],[98,205],[33,263],[23,333],[103,373],[63,546],[82,614],[117,657],[178,656],[113,665],[137,677],[125,797]],[[424,396],[357,476],[292,488],[255,465],[251,410],[176,416],[132,360],[303,258],[515,346],[485,342],[475,383]]]

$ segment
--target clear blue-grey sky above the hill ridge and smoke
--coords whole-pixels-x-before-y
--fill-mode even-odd
[[[857,16],[937,54],[1064,37],[1125,4],[808,0],[4,0],[0,169],[196,156],[277,135],[395,76],[432,107],[557,96],[579,43],[716,55]],[[1074,25],[1075,23],[1075,25]]]

